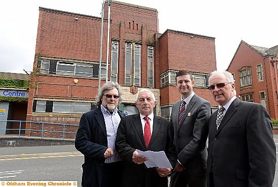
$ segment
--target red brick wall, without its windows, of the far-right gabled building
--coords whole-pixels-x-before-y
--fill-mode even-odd
[[[257,65],[262,65],[263,81],[258,81]],[[252,87],[241,89],[239,70],[242,67],[251,67]],[[270,63],[270,57],[265,57],[254,50],[249,44],[242,41],[228,67],[228,72],[235,74],[237,96],[253,93],[254,102],[260,103],[260,91],[265,92],[265,105],[270,117],[278,118],[275,66]]]

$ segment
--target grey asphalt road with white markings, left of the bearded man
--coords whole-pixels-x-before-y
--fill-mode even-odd
[[[82,163],[79,155],[2,160],[0,180],[77,180],[81,186]]]

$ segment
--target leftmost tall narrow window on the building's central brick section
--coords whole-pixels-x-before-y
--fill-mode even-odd
[[[112,41],[112,53],[111,53],[111,78],[110,81],[118,82],[118,42]]]

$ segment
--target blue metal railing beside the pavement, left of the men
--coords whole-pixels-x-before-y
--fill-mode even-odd
[[[5,133],[8,131],[18,131],[18,137],[20,138],[21,136],[21,132],[22,131],[29,131],[30,132],[30,137],[41,137],[41,139],[43,138],[62,138],[63,140],[65,139],[65,135],[70,135],[70,134],[76,134],[77,132],[77,129],[78,129],[78,124],[62,124],[62,123],[51,123],[51,122],[38,122],[38,121],[22,121],[22,120],[0,120],[0,124],[1,122],[7,122],[6,124],[6,127],[9,127],[11,126],[11,123],[18,123],[19,122],[19,129],[0,129],[0,132],[1,131],[5,131]],[[23,129],[22,128],[22,124],[25,123],[25,128]],[[26,129],[26,126],[27,124],[30,123],[30,128],[29,129]],[[0,126],[1,127],[1,126]],[[35,129],[32,129],[35,128]],[[38,128],[38,127],[41,127],[41,128]],[[57,129],[61,129],[61,127],[63,129],[61,129],[60,131],[54,131],[54,130],[50,130],[50,129],[53,129],[53,128],[57,128]],[[72,131],[69,131],[69,130],[72,130]],[[34,132],[34,133],[31,133],[31,132]],[[35,133],[35,132],[40,132],[40,136],[39,133]],[[58,134],[62,134],[62,137],[61,136],[57,136],[57,137],[50,137],[48,135],[48,133],[58,133]],[[44,136],[45,134],[47,134],[47,136]],[[7,135],[7,134],[6,134]],[[16,135],[16,134],[8,134],[8,135]],[[32,136],[33,135],[33,136]],[[35,135],[35,136],[34,136]],[[68,136],[68,137],[71,137],[71,136]],[[75,138],[75,136],[74,136]],[[74,139],[74,138],[68,138],[68,139]]]

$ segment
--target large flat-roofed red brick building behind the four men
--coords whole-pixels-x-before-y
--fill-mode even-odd
[[[107,46],[108,5],[104,9],[103,46]],[[180,98],[175,74],[194,74],[195,92],[212,102],[207,79],[216,70],[215,38],[186,32],[158,31],[156,9],[113,1],[110,17],[108,80],[123,88],[120,110],[136,113],[135,93],[151,89],[154,113],[169,117]],[[96,107],[101,18],[39,8],[32,88],[27,120],[78,124]],[[107,48],[102,50],[101,84],[106,77]]]

